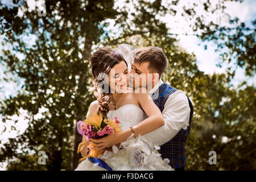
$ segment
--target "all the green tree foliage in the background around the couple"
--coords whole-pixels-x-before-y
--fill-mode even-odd
[[[205,12],[208,16],[216,11],[223,13],[224,2],[212,5],[204,1]],[[195,114],[186,146],[187,169],[255,169],[254,85],[246,86],[245,82],[232,89],[233,73],[205,75],[199,71],[196,56],[177,46],[176,35],[170,34],[170,27],[159,19],[180,11],[176,8],[179,1],[165,5],[159,0],[124,2],[128,4],[114,6],[111,0],[46,1],[46,16],[40,16],[37,6],[29,9],[26,1],[13,7],[0,4],[5,36],[0,61],[10,73],[24,79],[23,89],[16,96],[1,101],[1,118],[8,122],[9,116],[19,115],[21,108],[29,115],[26,131],[1,147],[0,161],[14,160],[7,167],[10,170],[75,168],[79,159],[76,148],[81,141],[75,123],[84,119],[90,102],[95,100],[88,58],[99,47],[130,43],[162,48],[169,60],[163,80],[184,90],[193,100]],[[195,34],[200,32],[202,40],[221,41],[228,47],[225,53],[232,56],[236,52],[237,65],[246,65],[247,75],[253,75],[255,33],[237,28],[234,34],[228,34],[227,27],[204,21],[207,14],[197,14],[193,10],[197,6],[200,4],[195,2],[181,10],[188,22],[195,20],[190,24]],[[22,16],[18,15],[19,9]],[[112,21],[113,28],[109,29]],[[24,38],[35,38],[35,43]],[[42,118],[38,119],[35,115],[42,108]],[[223,137],[228,140],[222,142]],[[217,152],[216,166],[208,163],[211,150]],[[46,151],[46,166],[34,164],[38,151]]]

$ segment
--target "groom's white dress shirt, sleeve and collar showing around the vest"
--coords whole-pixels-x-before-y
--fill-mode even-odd
[[[148,93],[152,95],[162,84],[163,81],[160,79],[158,84]],[[143,137],[150,140],[156,146],[162,146],[162,144],[174,138],[181,129],[187,130],[189,126],[190,107],[185,93],[176,90],[176,92],[171,94],[164,104],[162,114],[164,125],[143,135]]]

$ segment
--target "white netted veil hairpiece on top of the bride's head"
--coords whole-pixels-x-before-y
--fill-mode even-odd
[[[136,47],[130,44],[121,44],[118,48],[114,50],[117,53],[120,53],[125,59],[128,67],[128,72],[131,70],[131,64],[134,63],[136,56]]]

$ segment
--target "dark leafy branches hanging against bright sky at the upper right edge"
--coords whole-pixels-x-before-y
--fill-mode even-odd
[[[200,35],[205,42],[215,42],[216,51],[220,52],[222,62],[231,63],[236,60],[236,65],[245,68],[247,76],[254,76],[256,71],[255,35],[256,20],[251,22],[251,27],[247,27],[238,18],[230,19],[230,24],[235,27],[216,26],[216,30]],[[207,47],[206,47],[207,49]],[[227,51],[223,51],[226,49]],[[220,63],[221,67],[222,63]],[[229,72],[234,76],[236,69]]]

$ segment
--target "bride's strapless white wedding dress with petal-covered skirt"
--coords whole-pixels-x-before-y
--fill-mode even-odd
[[[146,119],[147,115],[137,105],[127,104],[117,110],[110,110],[107,117],[113,120],[117,117],[124,131]],[[174,170],[168,164],[168,159],[163,160],[157,151],[160,147],[154,146],[143,136],[130,137],[126,142],[122,142],[121,146],[122,149],[119,150],[114,146],[113,151],[105,151],[98,158],[104,160],[115,171]],[[98,163],[92,163],[85,159],[75,170],[98,171],[106,169],[98,166]]]

